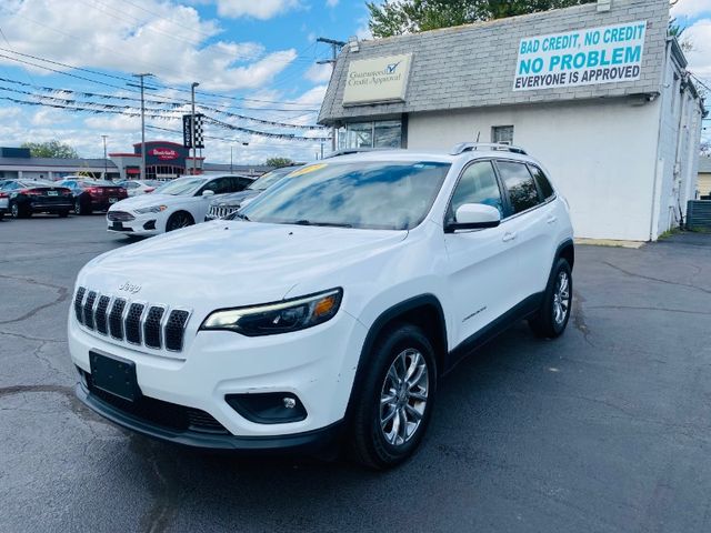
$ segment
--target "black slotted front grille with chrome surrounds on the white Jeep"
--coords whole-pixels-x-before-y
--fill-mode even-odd
[[[74,315],[86,329],[100,335],[153,350],[180,352],[190,311],[130,302],[80,286],[74,295]]]

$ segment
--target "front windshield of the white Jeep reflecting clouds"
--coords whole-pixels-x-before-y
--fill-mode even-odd
[[[319,163],[292,173],[240,211],[254,222],[410,230],[434,202],[449,163]]]

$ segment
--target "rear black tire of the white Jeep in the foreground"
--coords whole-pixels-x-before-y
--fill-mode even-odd
[[[561,293],[561,276],[567,279],[568,285],[564,294]],[[573,276],[570,264],[560,258],[548,280],[548,286],[543,294],[543,303],[535,316],[529,320],[529,325],[537,336],[543,339],[555,339],[562,335],[570,320],[570,311],[573,300]],[[558,308],[557,302],[561,302]],[[562,315],[560,314],[562,310]]]

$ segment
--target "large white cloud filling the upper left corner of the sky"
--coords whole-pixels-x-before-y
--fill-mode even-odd
[[[251,3],[264,9],[273,1]],[[170,14],[160,18],[156,12]],[[143,0],[140,8],[120,0],[100,4],[24,0],[2,3],[0,19],[12,48],[20,52],[81,67],[150,71],[167,83],[199,81],[206,90],[262,87],[297,57],[292,49],[267,53],[253,42],[208,44],[220,32],[218,24],[201,20],[192,7],[169,0]]]

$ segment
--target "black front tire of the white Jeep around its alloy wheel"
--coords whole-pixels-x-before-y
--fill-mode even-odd
[[[383,404],[381,400],[387,394],[387,388],[389,384],[394,384],[389,374],[391,366],[395,366],[398,364],[397,361],[400,361],[400,358],[405,353],[411,354],[409,361],[412,361],[413,351],[419,353],[421,360],[425,363],[427,401],[424,405],[417,405],[417,400],[402,395],[402,390],[398,393],[394,386],[390,388],[393,391],[391,394],[393,402]],[[367,356],[368,354],[364,355]],[[408,361],[407,355],[402,361]],[[437,393],[434,349],[422,330],[411,324],[397,323],[380,335],[362,372],[364,374],[358,376],[352,393],[352,412],[349,418],[350,452],[352,459],[364,466],[374,470],[390,469],[402,463],[414,453],[427,431]],[[414,391],[414,389],[410,389],[410,391]],[[421,386],[418,386],[417,391],[421,393]],[[402,406],[399,406],[400,404]],[[405,411],[408,415],[413,414],[412,410],[415,408],[422,409],[419,424],[415,425],[410,435],[407,435],[409,422],[405,423],[407,438],[402,439],[402,442],[390,442],[385,433],[394,433],[394,439],[400,439],[398,431],[401,425],[400,414],[394,416],[398,418],[398,429],[394,426],[394,418],[383,425],[383,416],[387,418],[393,412],[398,413],[399,409],[407,410],[408,406],[411,408]]]

